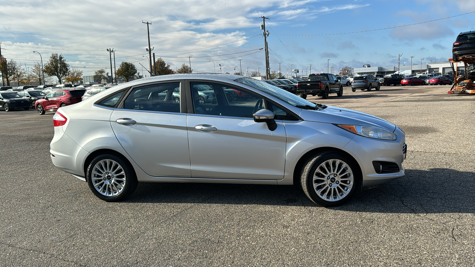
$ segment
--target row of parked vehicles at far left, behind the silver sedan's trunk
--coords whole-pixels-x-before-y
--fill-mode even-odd
[[[46,87],[48,86],[48,87]],[[0,87],[0,108],[9,112],[13,109],[34,108],[38,114],[56,111],[59,107],[73,105],[114,85],[43,85]]]

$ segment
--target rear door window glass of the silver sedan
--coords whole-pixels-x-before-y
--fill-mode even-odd
[[[179,113],[180,82],[135,87],[125,99],[123,108]]]

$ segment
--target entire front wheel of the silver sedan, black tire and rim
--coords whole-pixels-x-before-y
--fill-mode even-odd
[[[328,173],[327,177],[323,175],[326,171],[323,171],[323,173],[317,172],[317,168],[320,167],[319,170],[322,171],[324,170],[323,165],[326,167],[330,166],[330,164],[333,166],[330,169],[335,171]],[[357,191],[361,190],[361,174],[359,173],[358,166],[355,164],[353,159],[334,151],[311,156],[304,163],[300,172],[300,184],[305,195],[323,207],[334,207],[348,202]],[[338,173],[342,173],[342,170],[349,172],[339,176]],[[314,187],[314,183],[323,184]],[[328,196],[330,188],[332,193],[335,193],[334,196]]]

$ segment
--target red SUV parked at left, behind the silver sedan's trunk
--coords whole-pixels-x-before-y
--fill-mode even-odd
[[[54,90],[41,99],[38,99],[35,102],[35,108],[40,115],[45,114],[46,111],[57,111],[60,107],[81,102],[81,96],[83,96],[84,93],[84,89]]]

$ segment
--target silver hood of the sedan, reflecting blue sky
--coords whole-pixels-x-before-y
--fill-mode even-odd
[[[323,110],[303,109],[300,117],[305,121],[329,123],[329,124],[343,124],[343,125],[370,125],[377,126],[388,131],[394,132],[396,124],[392,124],[387,120],[379,117],[359,112],[356,110],[327,106]]]

